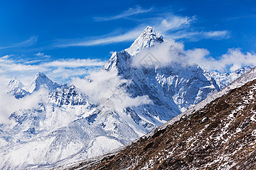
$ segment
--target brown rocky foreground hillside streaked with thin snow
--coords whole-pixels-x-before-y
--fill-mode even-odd
[[[256,67],[109,155],[63,169],[255,169]]]

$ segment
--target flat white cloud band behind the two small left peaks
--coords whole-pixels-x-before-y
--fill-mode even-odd
[[[85,76],[88,70],[98,70],[105,61],[100,59],[60,59],[59,61],[20,62],[10,56],[0,57],[1,84],[9,81],[13,76],[27,84],[36,73],[43,72],[57,83],[67,82],[72,76]],[[24,74],[26,73],[26,74]]]

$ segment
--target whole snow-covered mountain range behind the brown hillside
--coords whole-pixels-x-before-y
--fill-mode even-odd
[[[54,83],[43,73],[36,74],[27,86],[17,78],[11,79],[7,92],[16,99],[40,88],[49,94],[34,107],[11,113],[10,124],[0,125],[0,168],[49,168],[104,154],[217,94],[251,69],[220,74],[177,61],[161,65],[161,58],[147,51],[161,44],[170,46],[170,54],[184,58],[174,42],[147,27],[130,48],[114,52],[102,67],[101,71],[116,73],[121,81],[100,103],[94,103],[76,86]],[[147,53],[135,66],[134,59],[143,52]],[[92,82],[90,76],[84,80]],[[113,102],[117,99],[120,103],[129,103],[128,99],[148,101],[120,107]]]

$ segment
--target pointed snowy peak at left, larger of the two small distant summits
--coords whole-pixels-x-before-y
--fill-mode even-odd
[[[31,82],[28,83],[25,90],[32,93],[39,90],[40,86],[42,85],[46,85],[49,91],[56,90],[56,88],[59,87],[59,84],[52,82],[52,80],[50,80],[44,73],[38,72]]]

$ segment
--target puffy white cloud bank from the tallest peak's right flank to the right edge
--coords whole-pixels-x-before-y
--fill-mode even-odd
[[[256,63],[255,53],[242,53],[238,48],[229,49],[228,53],[216,58],[210,56],[207,49],[184,50],[182,43],[170,41],[138,53],[133,57],[133,66],[164,67],[173,63],[180,63],[181,66],[197,64],[209,71],[229,73],[241,67],[255,66]]]

